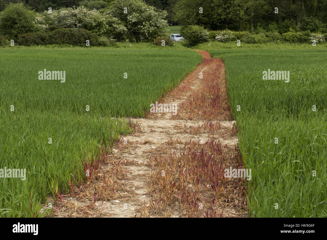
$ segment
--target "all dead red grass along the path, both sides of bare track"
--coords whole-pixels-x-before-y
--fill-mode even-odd
[[[151,154],[146,164],[151,168],[147,182],[151,199],[140,205],[135,217],[244,217],[246,214],[245,180],[224,177],[226,168],[243,168],[240,153],[237,146],[222,145],[217,140],[237,133],[235,125],[223,127],[220,124],[221,120],[232,120],[224,63],[221,59],[211,58],[208,52],[198,52],[203,56],[202,63],[160,103],[178,102],[177,115],[171,118],[197,119],[199,125],[174,127],[192,135],[186,142],[172,137],[147,150],[146,154]],[[203,79],[199,79],[200,72]],[[149,113],[148,117],[160,118],[160,115]],[[129,121],[129,126],[134,129],[134,134],[143,133],[138,124]],[[202,143],[198,136],[203,133],[208,134],[208,140]],[[145,143],[153,142],[143,139],[141,144]],[[121,150],[131,147],[129,143],[124,144],[123,137],[116,144]],[[124,154],[129,155],[127,152]],[[82,164],[84,173],[88,172],[89,176],[84,182],[71,182],[70,194],[53,196],[52,216],[107,216],[102,213],[102,204],[99,208],[95,206],[96,202],[116,199],[128,202],[135,194],[126,187],[130,173],[128,166],[135,163],[121,157],[109,157],[104,146],[85,156]],[[67,201],[69,197],[87,204],[74,205]]]

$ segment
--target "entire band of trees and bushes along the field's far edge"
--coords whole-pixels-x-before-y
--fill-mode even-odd
[[[168,23],[192,44],[323,42],[327,33],[327,0],[0,0],[0,8],[3,46],[159,43]]]

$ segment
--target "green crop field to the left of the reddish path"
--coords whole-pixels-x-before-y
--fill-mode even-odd
[[[1,179],[1,217],[38,217],[48,194],[83,178],[84,153],[95,157],[103,141],[110,147],[130,132],[112,117],[142,117],[202,59],[170,49],[5,48],[0,55],[1,169],[26,169],[25,180]],[[40,80],[44,69],[65,71],[64,82]]]

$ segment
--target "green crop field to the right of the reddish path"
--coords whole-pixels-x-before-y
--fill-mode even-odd
[[[327,51],[210,53],[225,62],[243,162],[252,169],[250,215],[327,217]],[[289,71],[289,82],[263,80],[268,69]]]

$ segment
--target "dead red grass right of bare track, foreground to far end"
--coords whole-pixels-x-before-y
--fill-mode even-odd
[[[149,163],[152,174],[148,181],[150,202],[144,202],[135,217],[244,217],[246,189],[244,178],[225,178],[224,169],[243,168],[237,146],[222,146],[215,136],[232,136],[232,128],[222,128],[218,120],[232,120],[228,104],[225,66],[221,59],[213,59],[206,51],[197,70],[169,92],[160,103],[175,101],[184,96],[172,119],[199,119],[203,124],[187,128],[190,134],[208,133],[208,141],[189,140],[180,149],[180,141],[170,140],[153,154]],[[199,79],[202,72],[203,79]],[[192,88],[192,85],[199,85]],[[152,114],[151,117],[157,117]],[[204,121],[209,120],[209,121]],[[178,126],[176,126],[178,127]],[[175,146],[176,145],[176,146]],[[177,151],[178,149],[180,151]],[[224,209],[234,214],[224,215]]]

